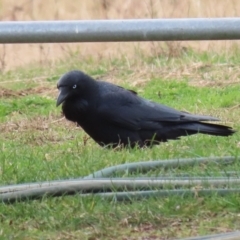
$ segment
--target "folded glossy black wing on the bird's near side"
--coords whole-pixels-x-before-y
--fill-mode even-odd
[[[217,118],[181,112],[138,97],[127,90],[102,97],[98,116],[130,130],[156,129],[162,122],[218,121]]]

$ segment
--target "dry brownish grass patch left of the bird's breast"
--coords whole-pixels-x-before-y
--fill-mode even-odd
[[[18,114],[15,113],[15,115]],[[0,124],[0,132],[5,139],[14,139],[14,141],[32,146],[60,143],[74,139],[76,131],[81,131],[81,128],[62,116],[35,117],[31,119],[17,117],[17,119]],[[85,137],[84,135],[79,141],[85,144]]]

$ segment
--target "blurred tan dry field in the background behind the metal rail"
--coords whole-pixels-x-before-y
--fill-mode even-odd
[[[1,0],[2,21],[79,20],[129,18],[237,17],[238,0]],[[168,42],[168,54],[176,54],[181,46],[226,51],[238,41]],[[0,69],[7,70],[32,62],[56,61],[71,50],[82,55],[111,57],[122,53],[133,56],[136,46],[147,54],[159,50],[154,43],[79,43],[79,44],[8,44],[0,47]]]

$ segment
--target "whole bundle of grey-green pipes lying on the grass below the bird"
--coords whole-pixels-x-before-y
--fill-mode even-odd
[[[205,157],[191,159],[169,159],[159,161],[126,163],[97,171],[86,177],[69,180],[56,180],[37,183],[25,183],[10,186],[0,186],[0,201],[12,203],[43,196],[61,196],[81,194],[83,197],[89,193],[99,195],[105,199],[117,201],[141,199],[146,197],[165,197],[171,195],[209,195],[216,193],[226,195],[240,193],[240,179],[237,176],[219,177],[135,177],[135,178],[109,178],[119,171],[128,173],[146,172],[153,169],[173,169],[181,166],[194,166],[197,164],[233,164],[238,161],[235,157]],[[228,175],[228,174],[227,174]],[[106,178],[108,176],[108,178]],[[205,188],[206,186],[214,188]],[[189,189],[189,187],[194,187]],[[199,186],[200,189],[199,189]],[[170,187],[170,189],[168,189]],[[174,189],[175,187],[180,189]],[[224,188],[219,188],[224,187]],[[141,190],[141,191],[139,191]],[[110,191],[110,192],[109,192]]]

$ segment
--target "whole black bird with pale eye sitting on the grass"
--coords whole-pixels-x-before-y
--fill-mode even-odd
[[[101,146],[144,147],[196,133],[229,136],[235,132],[228,126],[203,122],[219,121],[217,118],[148,101],[81,71],[64,74],[57,88],[57,106],[62,103],[65,117],[78,123]]]

